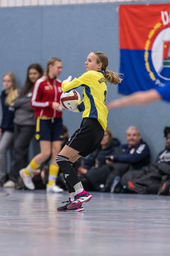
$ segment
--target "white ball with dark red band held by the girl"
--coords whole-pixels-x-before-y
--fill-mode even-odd
[[[81,102],[79,92],[71,90],[70,92],[62,92],[60,103],[65,110],[74,111]]]

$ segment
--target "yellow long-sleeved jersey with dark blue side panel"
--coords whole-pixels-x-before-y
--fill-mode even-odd
[[[83,100],[77,110],[83,112],[83,118],[98,119],[103,129],[106,130],[108,117],[108,108],[105,105],[107,85],[103,71],[89,70],[71,82],[63,81],[62,91],[68,92],[80,86],[83,87]]]

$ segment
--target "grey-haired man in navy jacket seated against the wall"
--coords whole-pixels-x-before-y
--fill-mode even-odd
[[[89,186],[96,191],[111,191],[115,177],[118,182],[129,169],[141,169],[142,166],[149,164],[149,146],[142,140],[139,129],[130,126],[126,134],[127,144],[115,149],[113,154],[108,154],[106,163],[99,168],[89,170],[85,181],[81,182],[90,184]]]

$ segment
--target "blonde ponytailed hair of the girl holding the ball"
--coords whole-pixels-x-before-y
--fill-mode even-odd
[[[106,80],[114,85],[120,83],[122,79],[116,73],[114,73],[112,70],[106,70],[108,66],[108,57],[106,54],[98,51],[94,52],[94,54],[97,56],[97,63],[102,64],[101,70],[104,71],[104,77]]]

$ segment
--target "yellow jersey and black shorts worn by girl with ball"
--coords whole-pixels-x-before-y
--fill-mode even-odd
[[[83,112],[81,126],[69,138],[67,146],[79,151],[81,156],[91,154],[103,139],[107,127],[108,109],[105,105],[107,85],[102,71],[88,71],[72,82],[62,82],[62,90],[68,92],[83,88],[83,100],[77,111]]]

